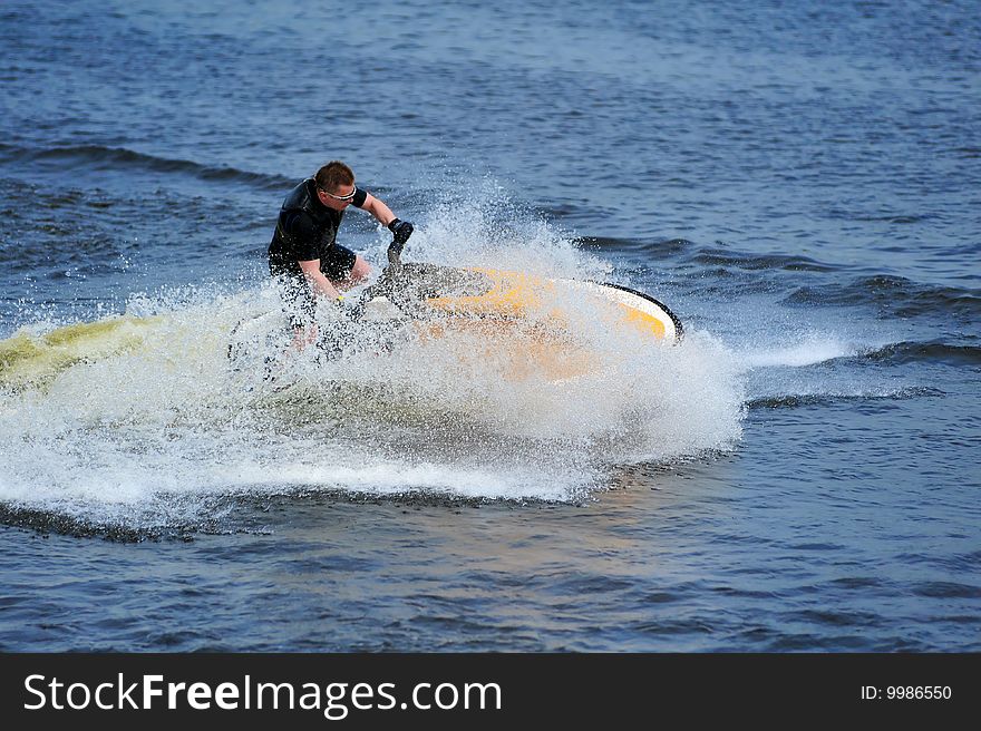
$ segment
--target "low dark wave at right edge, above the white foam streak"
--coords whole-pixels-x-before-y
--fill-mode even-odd
[[[876,274],[852,282],[800,286],[785,300],[791,305],[873,304],[883,314],[981,316],[981,290],[919,284],[904,276]]]

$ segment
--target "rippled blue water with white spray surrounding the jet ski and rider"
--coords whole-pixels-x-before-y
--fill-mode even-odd
[[[981,650],[974,3],[8,0],[0,48],[0,338],[158,323],[0,391],[0,649]],[[333,158],[406,259],[684,342],[255,396],[225,338]]]

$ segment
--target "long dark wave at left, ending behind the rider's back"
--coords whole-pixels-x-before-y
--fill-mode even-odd
[[[253,173],[234,167],[215,167],[193,160],[156,157],[125,147],[105,147],[103,145],[31,149],[0,143],[0,159],[17,163],[56,160],[120,169],[138,168],[157,173],[177,173],[192,175],[203,181],[243,183],[270,191],[281,191],[295,184],[295,179],[282,175]]]

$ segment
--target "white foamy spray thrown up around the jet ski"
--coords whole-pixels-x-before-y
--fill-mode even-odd
[[[488,236],[486,209],[499,205],[485,204],[436,208],[407,260],[604,274],[535,217]],[[256,374],[232,371],[226,357],[239,320],[279,306],[270,286],[142,296],[130,314],[158,320],[140,347],[3,396],[0,500],[130,524],[172,510],[183,519],[213,509],[195,498],[243,490],[570,500],[601,489],[611,466],[739,439],[739,366],[718,340],[651,344],[604,330],[587,304],[564,304],[595,374],[502,378],[506,353],[475,358],[482,343],[463,334],[327,366],[304,354],[276,383],[293,386],[276,391],[250,390]]]

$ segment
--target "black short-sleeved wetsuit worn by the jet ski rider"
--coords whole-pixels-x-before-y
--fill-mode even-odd
[[[368,193],[358,188],[351,205],[360,208],[367,198]],[[337,243],[337,232],[343,216],[343,211],[334,211],[320,202],[313,178],[300,183],[283,201],[269,244],[269,272],[281,277],[285,285],[294,326],[312,322],[317,304],[300,262],[319,259],[320,271],[334,282],[351,274],[356,254]]]

